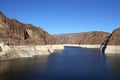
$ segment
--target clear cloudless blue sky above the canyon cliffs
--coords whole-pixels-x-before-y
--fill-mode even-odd
[[[120,27],[120,0],[0,0],[0,11],[50,34]]]

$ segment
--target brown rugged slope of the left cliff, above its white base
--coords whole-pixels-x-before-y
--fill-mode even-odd
[[[23,24],[16,19],[9,19],[1,12],[0,41],[7,41],[13,45],[61,43],[43,29],[31,24]]]

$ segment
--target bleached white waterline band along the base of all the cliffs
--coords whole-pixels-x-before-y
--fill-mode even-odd
[[[68,47],[81,47],[99,49],[100,45],[79,45],[79,44],[63,44],[63,45],[20,45],[8,46],[5,43],[0,43],[0,60],[14,59],[14,58],[27,58],[37,55],[50,55],[56,50],[63,50],[64,46]],[[120,54],[120,46],[107,45],[105,54]]]

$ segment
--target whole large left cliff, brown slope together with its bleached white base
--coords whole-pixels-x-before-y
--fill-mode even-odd
[[[0,12],[0,60],[49,55],[64,49],[61,41],[32,24],[7,18]]]

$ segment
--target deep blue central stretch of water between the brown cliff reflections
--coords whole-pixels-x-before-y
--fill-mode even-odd
[[[98,50],[66,47],[47,62],[45,75],[52,80],[111,80],[106,56]]]

